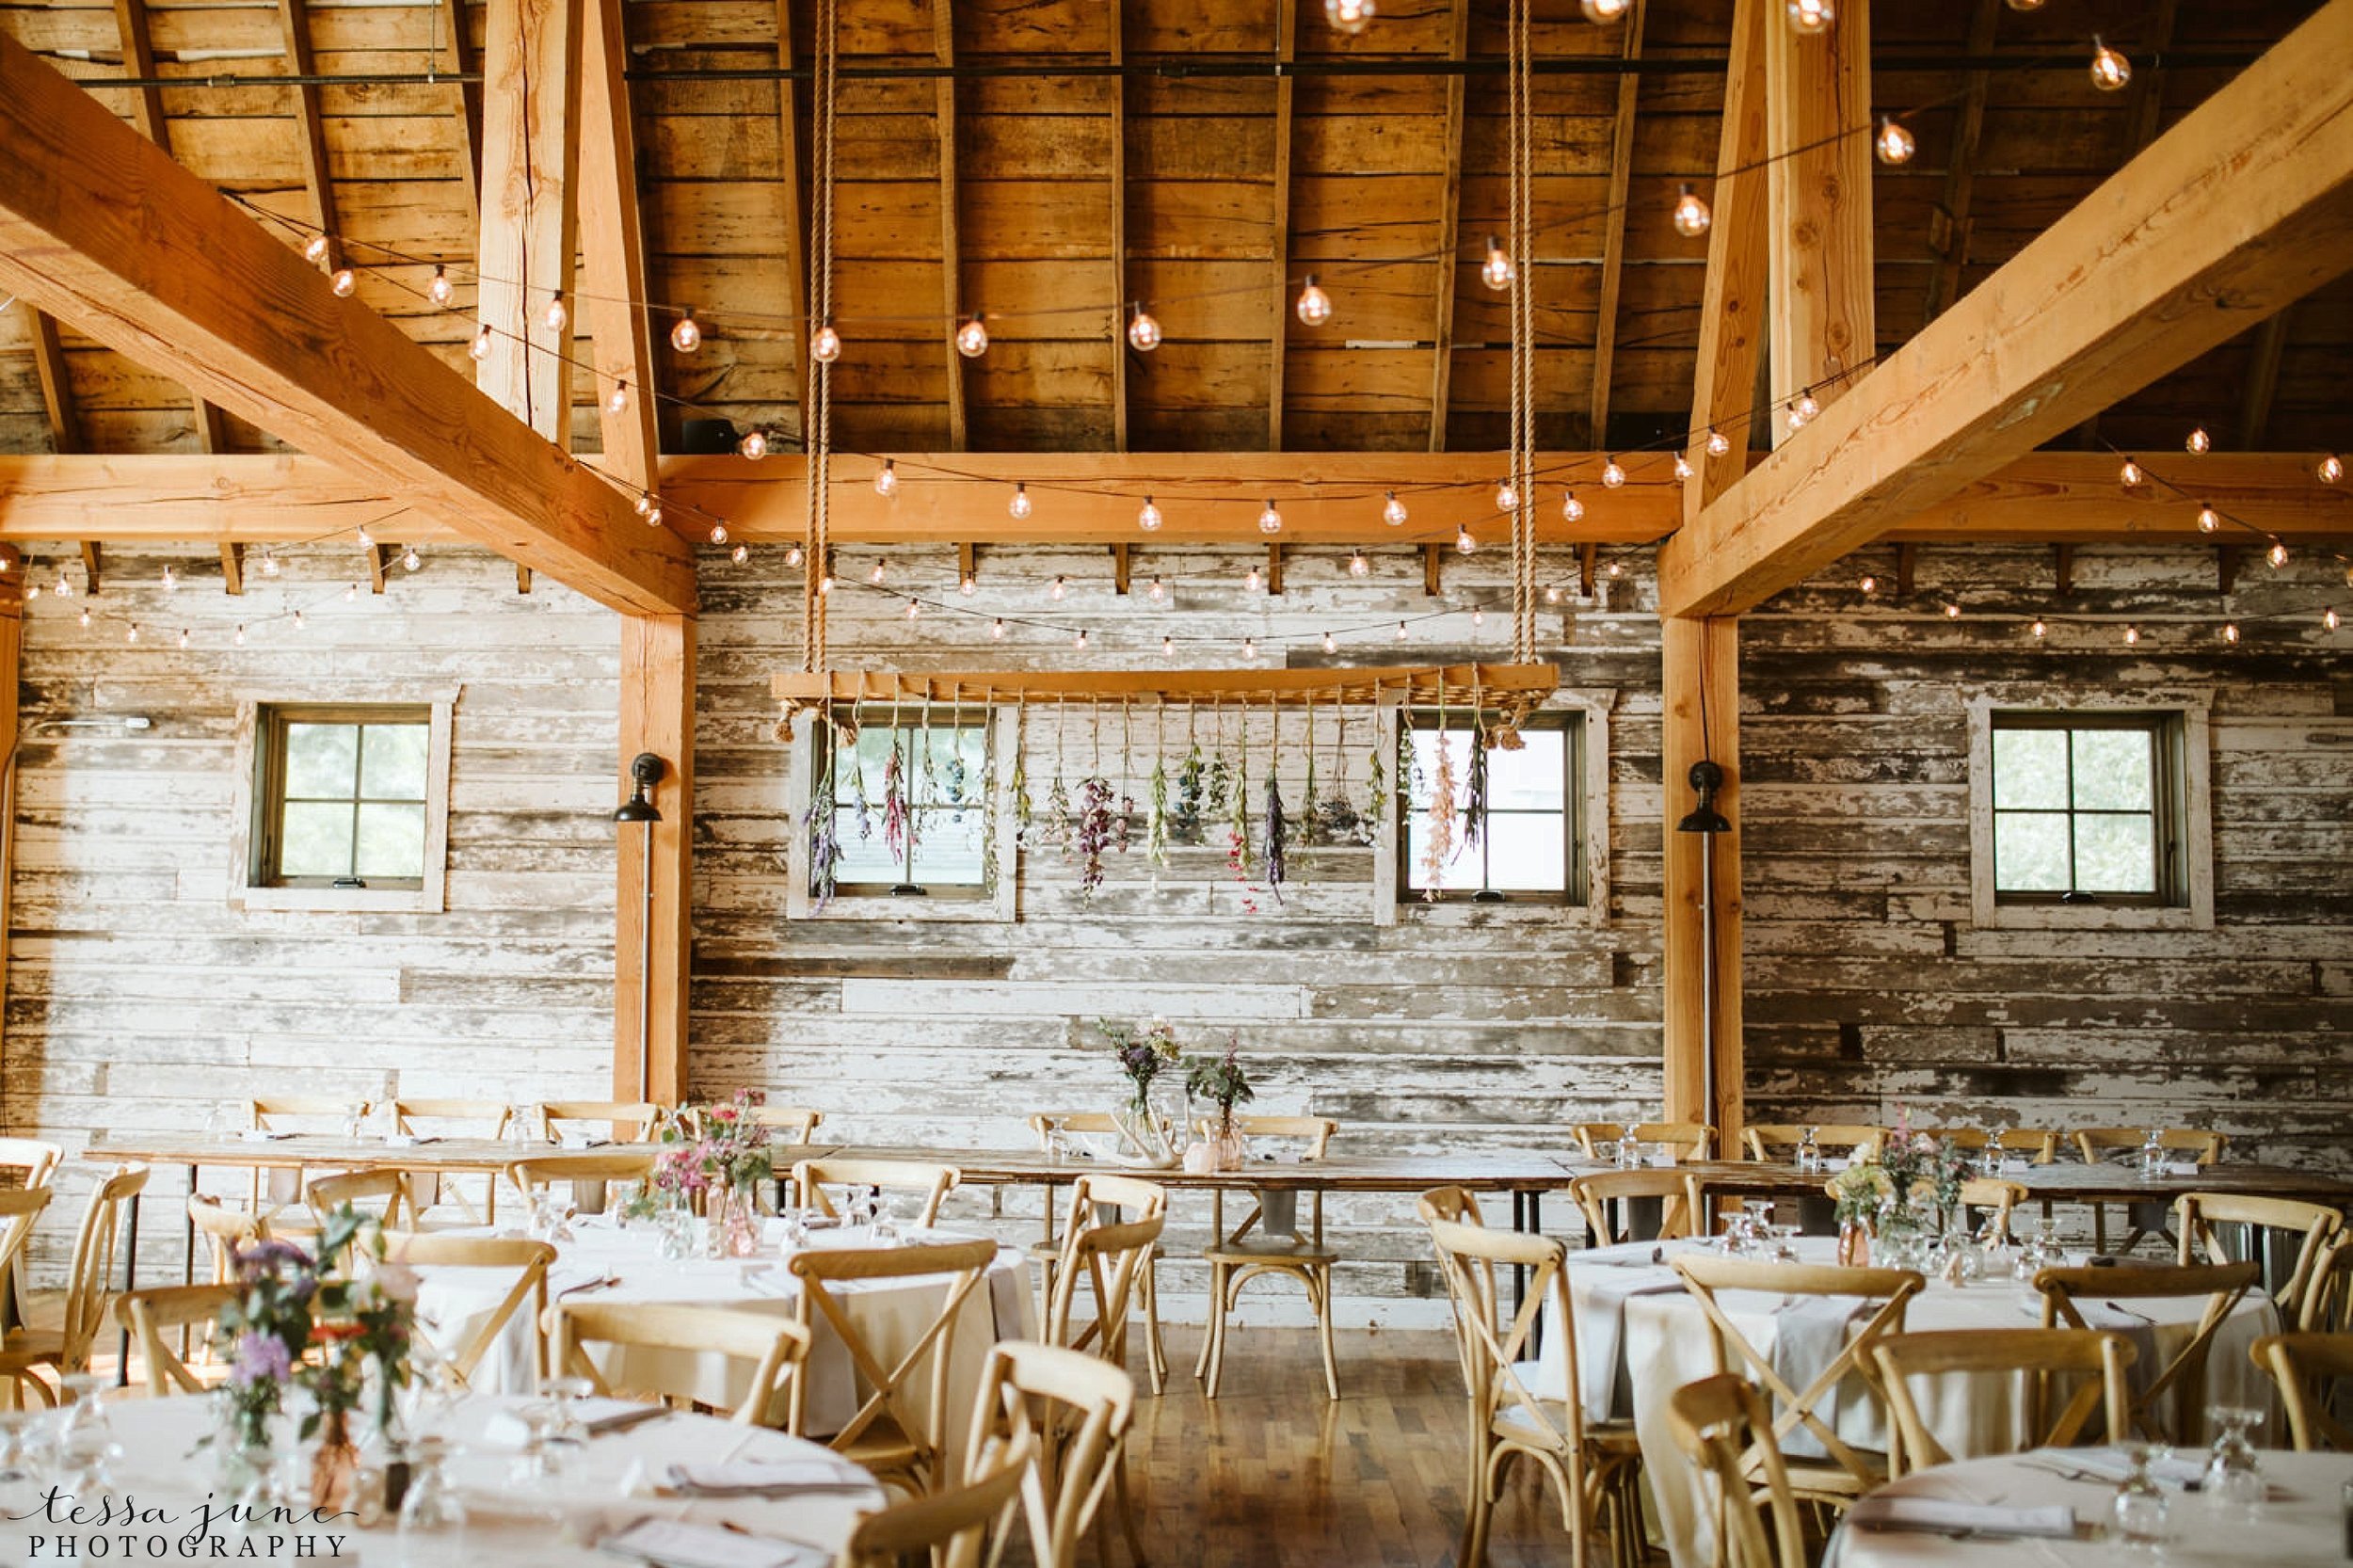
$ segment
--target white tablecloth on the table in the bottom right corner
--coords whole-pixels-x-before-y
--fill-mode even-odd
[[[2169,1493],[2162,1554],[2120,1552],[2104,1540],[2089,1540],[2085,1526],[2106,1526],[2115,1486],[2108,1481],[2071,1481],[2061,1474],[2071,1453],[2045,1448],[2012,1460],[1967,1460],[1939,1464],[1901,1481],[1889,1481],[1875,1495],[1944,1497],[1953,1502],[1998,1502],[2005,1507],[2042,1507],[2064,1502],[2075,1511],[2078,1540],[1951,1540],[1913,1530],[1857,1530],[1840,1526],[1831,1537],[1824,1568],[2115,1568],[2148,1561],[2165,1568],[2188,1563],[2287,1563],[2346,1561],[2346,1528],[2339,1488],[2353,1481],[2353,1455],[2278,1453],[2261,1455],[2264,1479],[2273,1497],[2252,1516],[2217,1509],[2198,1493]]]

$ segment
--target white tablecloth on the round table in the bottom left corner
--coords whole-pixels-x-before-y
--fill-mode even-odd
[[[219,1457],[198,1448],[214,1427],[209,1398],[108,1401],[115,1443],[122,1457],[111,1464],[115,1509],[136,1502],[141,1519],[96,1523],[101,1497],[68,1497],[56,1516],[80,1504],[85,1523],[49,1523],[40,1493],[45,1483],[16,1481],[0,1486],[0,1561],[282,1561],[296,1559],[367,1563],[369,1568],[579,1568],[600,1561],[588,1547],[638,1519],[675,1519],[718,1526],[722,1519],[755,1537],[800,1542],[800,1561],[812,1568],[831,1563],[849,1537],[859,1514],[882,1507],[880,1488],[864,1493],[798,1493],[786,1497],[633,1497],[624,1493],[631,1471],[661,1481],[671,1464],[708,1464],[722,1460],[807,1460],[821,1457],[816,1443],[736,1427],[708,1415],[668,1413],[656,1420],[588,1439],[565,1462],[562,1476],[539,1490],[511,1486],[513,1453],[485,1441],[487,1420],[520,1401],[468,1398],[438,1431],[461,1446],[452,1460],[466,1500],[464,1540],[416,1535],[402,1549],[398,1530],[384,1523],[360,1530],[351,1519],[332,1523],[271,1526],[256,1535],[252,1559],[240,1559],[242,1537],[235,1523],[202,1526],[200,1509],[219,1481]],[[231,1500],[214,1495],[209,1504],[226,1509]],[[75,1540],[61,1542],[61,1535]],[[129,1544],[125,1544],[129,1535]],[[278,1537],[275,1549],[271,1537]],[[311,1535],[308,1547],[294,1542]],[[341,1537],[329,1549],[327,1537]],[[35,1537],[40,1537],[35,1542]],[[106,1540],[96,1540],[106,1537]],[[193,1540],[195,1547],[184,1547]],[[626,1559],[602,1559],[621,1563]],[[795,1568],[800,1568],[795,1561]]]

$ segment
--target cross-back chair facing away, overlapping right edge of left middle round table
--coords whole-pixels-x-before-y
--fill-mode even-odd
[[[955,1321],[972,1293],[981,1288],[995,1257],[995,1241],[951,1241],[908,1248],[807,1250],[784,1260],[800,1281],[798,1321],[802,1330],[814,1330],[824,1321],[849,1354],[859,1382],[871,1389],[849,1422],[826,1436],[835,1453],[911,1493],[934,1490],[946,1481],[941,1457]],[[887,1363],[859,1318],[847,1311],[835,1285],[854,1288],[861,1281],[925,1274],[944,1278],[941,1302],[932,1323],[908,1342],[896,1361]],[[809,1436],[807,1403],[807,1380],[795,1377],[793,1436]]]

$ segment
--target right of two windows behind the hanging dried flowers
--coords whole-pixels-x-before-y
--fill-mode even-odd
[[[1489,713],[1492,723],[1497,716]],[[1454,852],[1438,869],[1440,892],[1478,902],[1586,902],[1584,723],[1577,713],[1537,713],[1520,725],[1520,746],[1478,753],[1487,770],[1487,819],[1466,836],[1473,772],[1468,713],[1445,716],[1445,746],[1454,772]],[[1424,864],[1431,845],[1431,786],[1438,777],[1440,723],[1435,711],[1412,720],[1412,812],[1398,833],[1398,897],[1419,899],[1431,885]]]

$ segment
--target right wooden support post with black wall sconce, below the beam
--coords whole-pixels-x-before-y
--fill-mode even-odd
[[[1737,1144],[1744,1118],[1739,622],[1668,619],[1661,631],[1666,1118],[1715,1125],[1722,1149]],[[1678,831],[1697,805],[1692,763],[1704,758],[1722,768],[1715,810],[1729,833]]]

